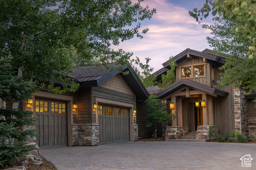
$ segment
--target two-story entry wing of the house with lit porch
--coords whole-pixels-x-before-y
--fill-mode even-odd
[[[252,99],[256,93],[245,96],[246,91],[232,85],[215,88],[220,80],[219,67],[226,63],[228,55],[212,53],[212,50],[195,51],[186,49],[173,57],[175,64],[176,82],[165,89],[158,89],[154,94],[157,98],[172,104],[169,113],[176,117],[169,124],[175,135],[166,139],[180,139],[188,132],[197,133],[197,139],[209,139],[209,127],[216,134],[230,134],[232,129],[242,132],[247,137],[254,139],[256,135],[256,109]],[[156,71],[156,81],[162,82],[162,74],[170,69],[168,61],[162,64],[163,68]],[[140,117],[139,113],[137,117]],[[139,119],[138,119],[139,120]],[[138,121],[138,125],[144,121]],[[139,126],[140,127],[140,126]],[[140,135],[149,135],[143,131]],[[179,131],[181,135],[176,132]],[[165,128],[164,128],[165,134]],[[167,134],[167,133],[166,133]]]

